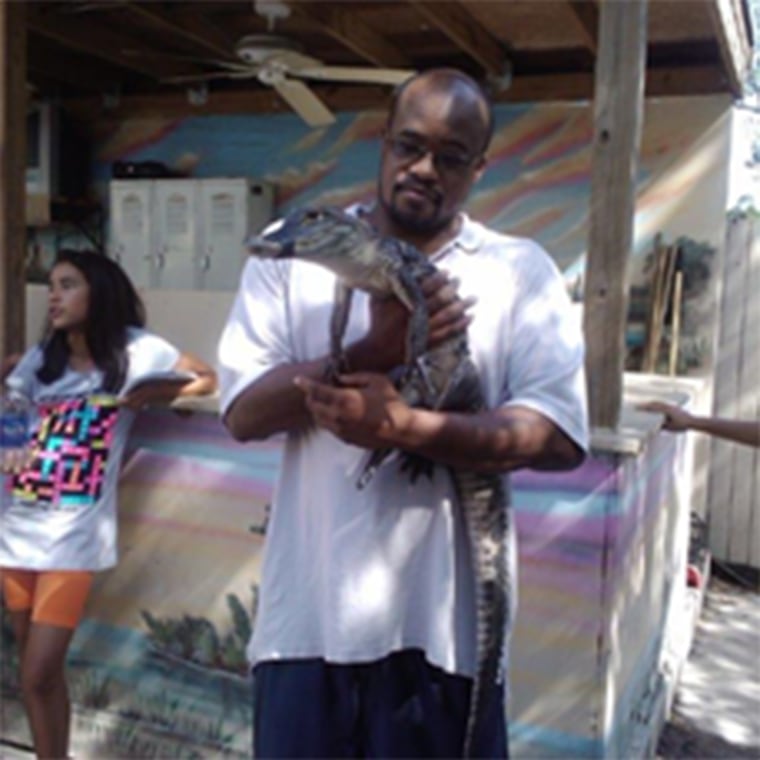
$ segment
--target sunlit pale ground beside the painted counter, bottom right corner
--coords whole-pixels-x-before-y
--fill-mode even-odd
[[[760,759],[759,591],[713,571],[658,758]]]

